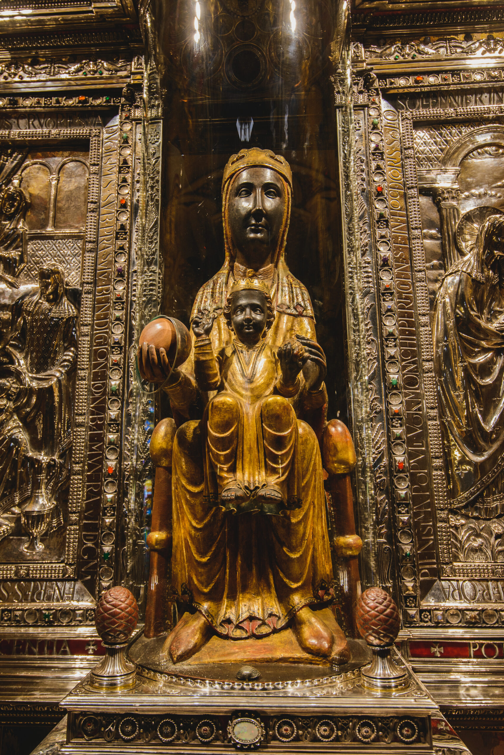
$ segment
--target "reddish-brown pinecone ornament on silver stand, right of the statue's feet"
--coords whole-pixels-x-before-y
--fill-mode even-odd
[[[401,627],[398,607],[381,587],[364,590],[355,606],[355,623],[368,645],[392,645]]]

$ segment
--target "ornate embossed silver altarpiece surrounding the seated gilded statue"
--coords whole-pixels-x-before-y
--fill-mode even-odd
[[[385,743],[397,720],[410,718],[421,736],[408,744],[392,734],[390,750],[459,753],[465,750],[449,725],[499,730],[499,3],[461,11],[450,0],[365,0],[348,15],[331,5],[333,69],[318,106],[331,111],[324,118],[333,155],[318,156],[327,171],[319,163],[317,180],[313,163],[292,146],[302,114],[293,105],[290,116],[279,109],[273,117],[256,97],[260,77],[284,65],[280,42],[268,46],[261,36],[271,8],[223,3],[221,37],[202,40],[200,60],[188,46],[198,32],[194,14],[184,22],[190,33],[169,54],[160,50],[160,2],[27,0],[16,13],[11,5],[0,2],[2,723],[57,723],[68,695],[73,752],[163,743],[181,751],[187,741],[198,751],[222,749],[232,716],[219,716],[233,706],[262,715],[268,746],[284,752],[336,748],[324,744],[335,740],[342,752],[369,747],[367,725]],[[199,29],[204,35],[201,19]],[[306,60],[314,43],[300,39]],[[247,50],[259,61],[249,89],[247,71],[233,63]],[[189,112],[184,136],[201,145],[200,128],[214,128],[214,117],[226,121],[211,131],[221,140],[215,159],[203,148],[186,159],[173,138],[183,107],[170,88],[177,71],[177,86],[189,92],[208,75],[208,101],[201,97]],[[246,107],[215,115],[219,77],[257,104],[254,125]],[[283,89],[278,100],[287,101]],[[310,100],[307,120],[312,107]],[[259,683],[243,698],[234,683],[216,686],[202,703],[198,686],[162,670],[128,693],[137,698],[134,713],[126,693],[100,697],[89,680],[72,692],[105,653],[94,628],[100,596],[124,585],[137,599],[139,627],[145,617],[155,477],[149,441],[167,407],[138,384],[140,331],[158,313],[188,319],[189,297],[220,265],[223,165],[266,133],[264,123],[276,129],[275,150],[293,165],[294,196],[303,197],[290,234],[309,227],[310,214],[330,218],[313,231],[306,254],[293,245],[291,264],[318,302],[319,337],[339,365],[330,411],[347,422],[357,455],[361,589],[378,585],[394,596],[396,660],[414,675],[409,692],[366,703],[355,667],[343,676],[327,671],[308,692],[291,690],[287,700],[311,706],[298,710],[291,740],[275,733],[282,716],[294,716],[284,687],[275,693],[283,713],[278,707],[269,718],[272,695]],[[339,331],[332,341],[331,329]],[[174,622],[174,606],[167,611]],[[159,695],[158,708],[149,695]],[[327,740],[316,734],[326,719],[338,722],[333,739],[332,729]],[[215,729],[206,744],[204,725]]]

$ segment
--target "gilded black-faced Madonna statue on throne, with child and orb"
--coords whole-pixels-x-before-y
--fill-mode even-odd
[[[256,148],[233,155],[223,176],[226,260],[195,299],[189,358],[172,369],[169,348],[155,342],[160,320],[140,336],[140,375],[163,384],[174,415],[150,445],[157,469],[146,619],[163,614],[174,590],[186,612],[164,643],[173,663],[201,655],[215,637],[254,639],[261,660],[283,630],[301,662],[349,660],[330,609],[321,447],[327,473],[345,479],[350,509],[355,451],[346,427],[325,419],[326,360],[312,304],[284,259],[291,202],[283,157]],[[336,538],[339,553],[355,557],[353,513],[343,518],[352,522]],[[171,538],[170,585],[161,572]],[[245,645],[228,643],[236,659]]]

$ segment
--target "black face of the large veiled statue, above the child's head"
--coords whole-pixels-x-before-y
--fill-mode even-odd
[[[245,168],[231,186],[229,226],[236,248],[257,268],[275,251],[284,216],[284,187],[270,168]]]

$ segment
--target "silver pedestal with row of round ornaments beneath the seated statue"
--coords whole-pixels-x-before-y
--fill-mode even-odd
[[[369,651],[353,643],[364,658],[349,670],[257,663],[260,680],[239,681],[235,667],[211,678],[204,665],[167,673],[137,664],[134,688],[99,695],[88,677],[61,702],[69,716],[60,755],[156,755],[163,747],[173,755],[254,747],[277,755],[433,755],[431,716],[439,709],[425,687],[407,668],[403,689],[366,689]],[[392,657],[401,663],[395,648]]]

